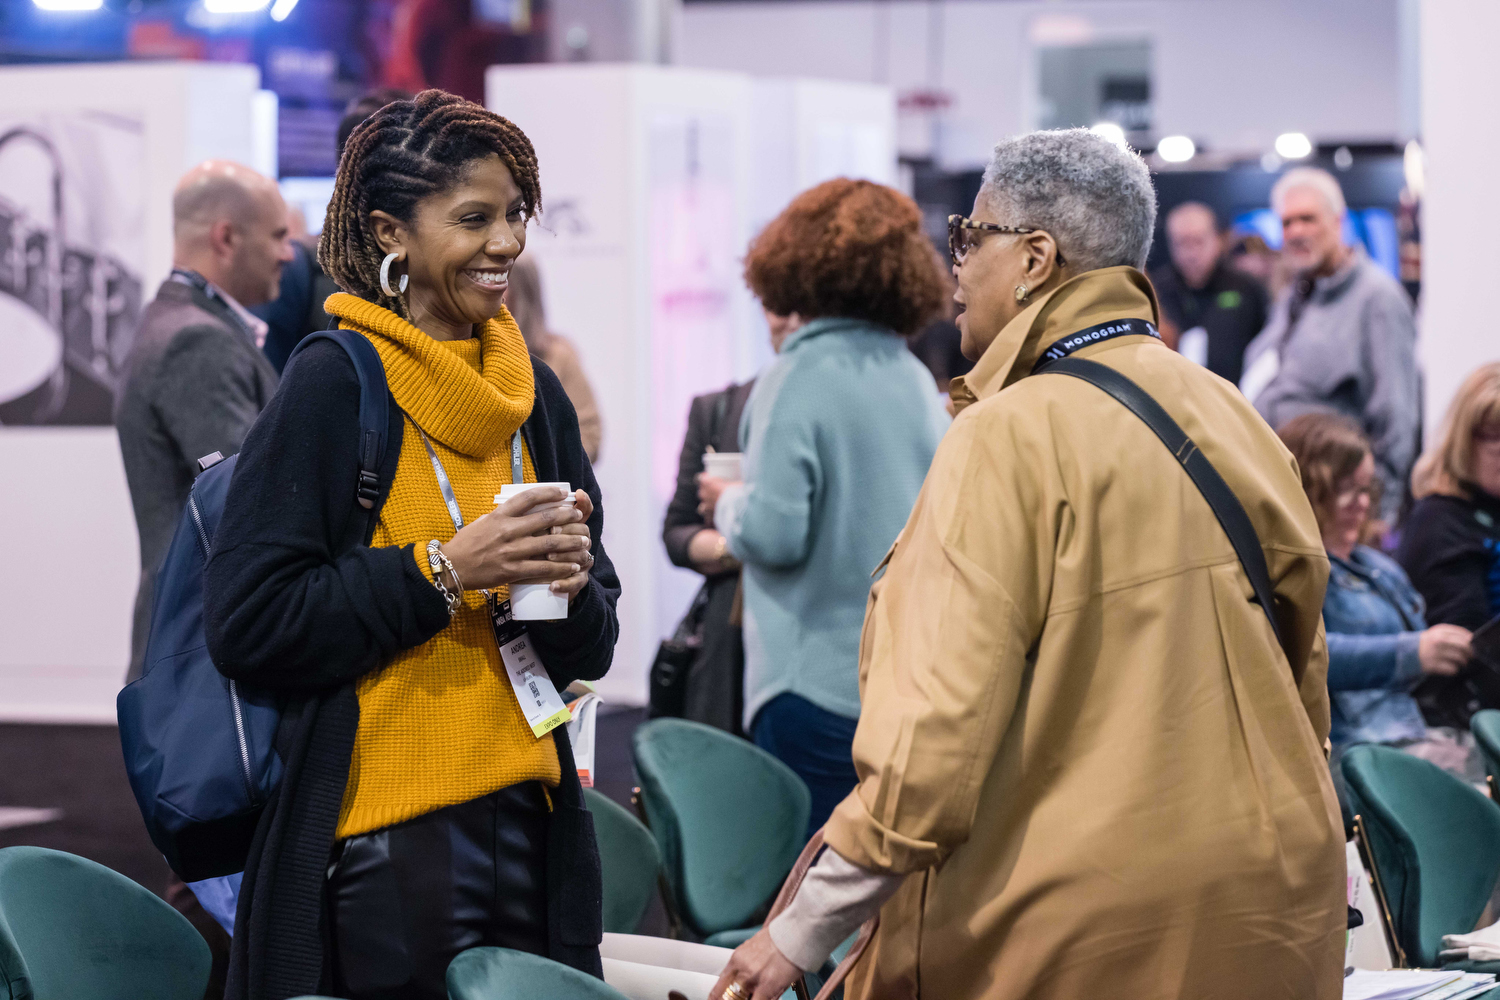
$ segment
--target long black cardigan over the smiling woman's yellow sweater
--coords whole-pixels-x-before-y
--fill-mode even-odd
[[[540,481],[594,501],[594,567],[568,618],[532,622],[538,657],[561,690],[604,675],[620,636],[620,579],[600,543],[604,507],[578,417],[542,361],[522,427]],[[204,631],[219,670],[285,699],[276,736],[284,777],[261,816],[240,889],[230,1000],[282,1000],[327,987],[322,882],[358,727],[354,685],[448,624],[411,546],[370,549],[390,493],[405,418],[390,403],[380,499],[354,501],[358,381],[334,343],[288,367],[240,451],[204,576]],[[441,498],[434,495],[434,502]],[[550,957],[602,975],[602,886],[592,817],[564,729],[554,730],[562,784],[548,834]]]

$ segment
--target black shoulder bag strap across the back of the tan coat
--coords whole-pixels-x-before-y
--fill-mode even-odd
[[[1234,496],[1224,477],[1198,451],[1198,445],[1192,444],[1192,438],[1184,433],[1178,421],[1146,390],[1106,364],[1064,357],[1040,367],[1036,373],[1071,375],[1102,388],[1124,403],[1128,411],[1140,417],[1161,438],[1161,442],[1167,445],[1167,451],[1182,465],[1192,478],[1192,484],[1203,493],[1203,499],[1214,508],[1214,516],[1218,517],[1224,534],[1228,535],[1230,544],[1234,546],[1234,553],[1239,556],[1240,565],[1245,567],[1245,576],[1250,577],[1250,585],[1256,591],[1256,600],[1260,603],[1262,610],[1266,612],[1266,621],[1270,622],[1270,631],[1276,636],[1276,645],[1286,652],[1287,645],[1281,642],[1281,628],[1276,625],[1275,591],[1270,586],[1270,573],[1266,570],[1266,553],[1260,549],[1260,537],[1256,534],[1256,526],[1250,523],[1250,514],[1245,513],[1239,498]],[[1290,654],[1287,654],[1287,658],[1290,660]]]

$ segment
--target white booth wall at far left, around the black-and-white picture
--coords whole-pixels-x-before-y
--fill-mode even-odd
[[[66,243],[122,259],[150,300],[171,270],[177,178],[208,157],[256,160],[258,85],[254,66],[219,63],[0,67],[0,130],[50,136]],[[0,199],[32,220],[51,211],[36,156],[0,150]],[[0,364],[16,349],[6,336]],[[114,721],[140,577],[114,427],[0,426],[0,720]]]

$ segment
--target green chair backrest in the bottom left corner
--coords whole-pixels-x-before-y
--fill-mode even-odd
[[[192,924],[124,876],[60,850],[0,850],[0,997],[200,1000],[210,963]]]

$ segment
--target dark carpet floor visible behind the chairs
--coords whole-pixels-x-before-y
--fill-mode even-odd
[[[630,736],[642,721],[645,709],[604,706],[598,714],[596,787],[632,811]],[[152,892],[166,886],[166,862],[141,825],[114,726],[0,724],[0,807],[62,810],[62,817],[48,823],[0,829],[0,847],[66,850],[114,868]],[[638,930],[666,934],[660,900]]]

